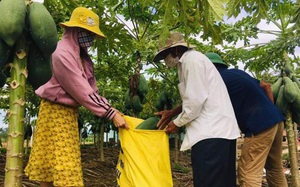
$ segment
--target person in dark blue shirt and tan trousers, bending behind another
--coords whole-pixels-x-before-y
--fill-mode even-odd
[[[205,54],[227,87],[244,143],[238,161],[241,187],[258,187],[266,169],[270,187],[287,187],[282,166],[284,116],[274,105],[270,84],[239,69],[228,69],[216,53]]]

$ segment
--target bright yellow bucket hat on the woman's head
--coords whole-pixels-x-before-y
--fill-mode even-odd
[[[100,38],[105,37],[99,27],[98,15],[88,8],[75,8],[72,12],[70,20],[60,23],[59,25],[61,27],[80,27],[95,33]]]

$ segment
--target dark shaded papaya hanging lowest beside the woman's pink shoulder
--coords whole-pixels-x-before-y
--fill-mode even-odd
[[[37,89],[52,76],[51,56],[44,56],[41,50],[31,45],[27,59],[28,83]]]

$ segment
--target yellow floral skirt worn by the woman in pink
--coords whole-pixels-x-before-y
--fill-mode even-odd
[[[42,100],[25,174],[54,186],[84,186],[75,108]]]

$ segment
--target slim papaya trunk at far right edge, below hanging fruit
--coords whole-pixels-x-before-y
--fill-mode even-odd
[[[296,186],[300,186],[298,154],[297,154],[295,130],[294,130],[294,125],[292,122],[292,116],[290,110],[287,111],[285,125],[286,125],[289,157],[290,157],[290,164],[291,164],[291,174],[292,174],[291,186],[296,187]]]

